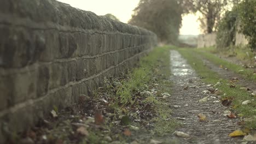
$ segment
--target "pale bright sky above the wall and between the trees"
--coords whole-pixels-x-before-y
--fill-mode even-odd
[[[139,0],[57,0],[70,4],[72,7],[92,11],[97,15],[113,14],[121,22],[131,19],[132,10]],[[181,34],[200,34],[199,24],[195,15],[183,17]]]

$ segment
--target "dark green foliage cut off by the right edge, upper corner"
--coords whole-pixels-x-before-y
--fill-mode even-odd
[[[256,1],[245,0],[238,5],[241,32],[248,39],[249,47],[256,50]]]

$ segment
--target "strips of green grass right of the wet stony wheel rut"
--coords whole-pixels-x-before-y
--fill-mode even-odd
[[[252,118],[252,121],[245,122],[245,127],[255,130],[256,129],[256,103],[252,101],[251,104],[242,105],[242,101],[255,99],[251,94],[246,92],[245,90],[240,89],[241,86],[236,86],[235,88],[230,88],[229,80],[220,79],[220,76],[209,69],[203,64],[202,60],[198,58],[196,52],[192,49],[177,49],[182,56],[188,59],[188,63],[196,70],[196,73],[203,77],[202,81],[210,84],[215,84],[216,82],[221,81],[222,85],[216,87],[222,91],[222,98],[230,98],[233,100],[232,108],[236,111],[236,113],[243,118]],[[229,69],[238,70],[241,67],[237,65],[232,65],[226,62],[223,62],[219,58],[213,56],[209,53],[203,53],[203,56],[208,57],[210,59],[214,59],[217,64],[223,64],[225,67]],[[251,77],[254,79],[254,77]]]

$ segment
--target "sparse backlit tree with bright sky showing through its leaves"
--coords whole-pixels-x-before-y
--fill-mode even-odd
[[[241,0],[180,0],[186,13],[199,11],[199,21],[205,33],[212,33],[225,11]]]

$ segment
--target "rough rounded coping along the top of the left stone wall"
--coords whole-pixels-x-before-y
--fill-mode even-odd
[[[96,29],[97,31],[154,35],[153,32],[146,29],[114,21],[104,16],[97,16],[91,11],[73,8],[54,0],[3,0],[0,4],[0,13],[30,19],[45,25],[54,24],[72,28]],[[8,17],[5,18],[8,19]],[[0,21],[3,21],[2,19],[4,17]]]

